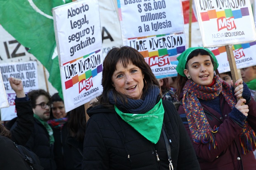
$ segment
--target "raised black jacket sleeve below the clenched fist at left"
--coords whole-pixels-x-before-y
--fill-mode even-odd
[[[15,108],[17,111],[17,117],[9,121],[6,124],[6,127],[11,131],[12,141],[16,144],[25,146],[34,128],[34,113],[31,105],[31,100],[28,99],[21,101],[17,100],[16,98]],[[14,124],[15,126],[13,126]]]

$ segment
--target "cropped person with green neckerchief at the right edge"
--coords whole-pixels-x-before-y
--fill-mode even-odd
[[[242,79],[247,84],[251,91],[251,96],[254,98],[256,93],[256,65],[240,69]]]

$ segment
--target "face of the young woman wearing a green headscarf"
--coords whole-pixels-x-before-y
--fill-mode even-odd
[[[201,85],[208,86],[213,81],[213,64],[210,56],[200,54],[191,58],[187,62],[187,69],[184,70],[185,75]]]

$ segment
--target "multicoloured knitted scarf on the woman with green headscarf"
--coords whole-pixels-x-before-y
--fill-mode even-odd
[[[216,75],[214,75],[213,78],[215,79],[215,84],[211,87],[201,86],[191,79],[187,80],[183,88],[183,107],[187,115],[192,140],[195,143],[203,144],[210,142],[215,149],[217,141],[215,140],[214,133],[218,132],[218,127],[214,129],[211,128],[198,98],[202,100],[212,100],[222,93],[231,109],[235,107],[237,101],[232,94],[231,87],[226,82]],[[243,154],[256,149],[256,135],[247,121],[244,123],[239,138],[243,148]],[[209,144],[209,149],[210,146],[211,144]]]

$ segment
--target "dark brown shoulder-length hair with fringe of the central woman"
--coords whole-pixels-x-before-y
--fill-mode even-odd
[[[142,54],[139,51],[132,47],[123,46],[123,47],[116,47],[111,49],[106,58],[103,61],[103,71],[102,71],[102,86],[103,92],[97,98],[98,102],[94,103],[93,105],[102,104],[106,107],[113,107],[113,105],[109,102],[108,93],[110,90],[114,92],[114,100],[116,101],[117,98],[120,98],[123,103],[127,102],[127,96],[121,93],[118,93],[112,82],[112,75],[116,70],[116,64],[121,61],[124,68],[127,68],[129,63],[136,65],[138,68],[141,69],[142,74],[144,74],[144,86],[143,88],[143,95],[148,91],[148,89],[152,85],[159,86],[159,82],[157,81],[156,77],[154,76],[151,68],[146,63]],[[159,86],[160,88],[160,86]]]

